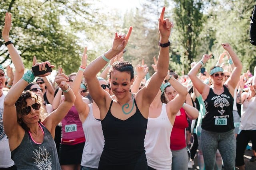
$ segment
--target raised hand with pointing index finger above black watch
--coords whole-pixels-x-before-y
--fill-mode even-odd
[[[169,21],[168,18],[164,19],[164,11],[165,7],[163,7],[162,12],[160,14],[160,18],[158,20],[158,30],[160,33],[160,38],[168,39],[170,37],[171,28],[173,27],[173,23]]]

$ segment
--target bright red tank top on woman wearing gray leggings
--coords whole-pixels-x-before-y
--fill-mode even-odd
[[[180,115],[176,115],[171,133],[171,150],[180,150],[186,147],[185,129],[188,127],[187,115],[183,108],[180,108]]]

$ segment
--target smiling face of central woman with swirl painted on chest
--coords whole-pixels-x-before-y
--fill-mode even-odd
[[[109,82],[111,90],[116,98],[122,99],[127,96],[127,94],[130,92],[133,80],[134,79],[131,79],[131,75],[128,72],[113,70]]]

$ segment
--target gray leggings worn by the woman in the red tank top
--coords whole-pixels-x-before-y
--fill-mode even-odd
[[[172,170],[188,170],[188,151],[185,148],[172,151]]]

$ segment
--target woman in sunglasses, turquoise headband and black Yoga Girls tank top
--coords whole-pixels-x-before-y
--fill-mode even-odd
[[[206,107],[206,114],[202,119],[202,152],[206,170],[213,169],[216,150],[219,149],[224,162],[225,170],[234,170],[236,157],[236,139],[234,134],[233,104],[234,89],[239,81],[242,63],[228,43],[222,47],[228,51],[234,63],[231,76],[224,82],[224,71],[221,67],[214,66],[210,69],[212,85],[204,84],[197,76],[199,69],[211,55],[203,55],[188,73],[193,86],[202,95]]]

